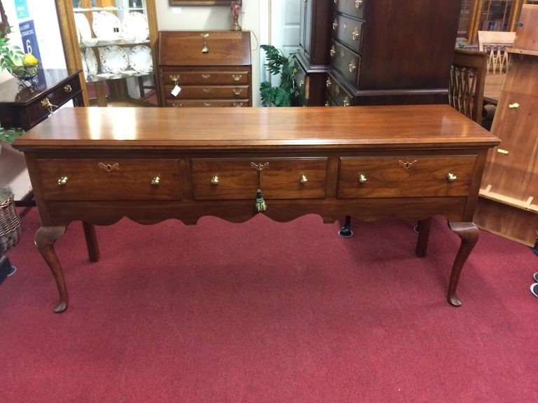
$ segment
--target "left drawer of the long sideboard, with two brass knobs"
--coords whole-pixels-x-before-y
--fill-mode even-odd
[[[181,199],[177,160],[38,160],[48,200]]]

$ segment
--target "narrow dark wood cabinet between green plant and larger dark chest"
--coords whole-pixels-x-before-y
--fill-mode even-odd
[[[332,1],[301,2],[299,50],[296,53],[296,105],[322,106],[329,67]]]

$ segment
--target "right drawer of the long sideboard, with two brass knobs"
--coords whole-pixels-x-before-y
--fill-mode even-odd
[[[466,197],[476,157],[340,158],[338,197]]]

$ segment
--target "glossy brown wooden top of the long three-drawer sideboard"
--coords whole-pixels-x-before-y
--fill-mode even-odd
[[[448,105],[347,108],[63,108],[18,150],[308,150],[490,147],[499,139]]]

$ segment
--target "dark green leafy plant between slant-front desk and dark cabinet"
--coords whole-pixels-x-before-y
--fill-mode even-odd
[[[295,97],[294,88],[294,58],[287,57],[282,50],[273,45],[261,45],[267,59],[267,71],[272,76],[280,76],[280,84],[272,85],[263,81],[260,85],[261,104],[263,106],[291,106]]]

